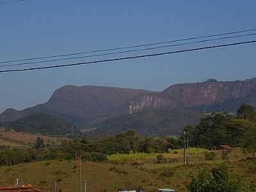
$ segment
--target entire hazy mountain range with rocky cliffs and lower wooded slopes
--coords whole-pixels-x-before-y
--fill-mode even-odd
[[[185,123],[195,124],[204,113],[235,112],[244,102],[256,106],[256,78],[174,84],[162,92],[68,85],[44,104],[21,111],[6,109],[0,122],[44,113],[97,134],[127,129],[150,135],[178,134]]]

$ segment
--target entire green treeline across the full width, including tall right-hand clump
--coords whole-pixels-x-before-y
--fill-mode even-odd
[[[190,147],[215,148],[221,144],[244,147],[255,157],[256,154],[256,111],[243,104],[236,115],[212,113],[195,126],[185,127]],[[164,153],[169,149],[184,147],[184,137],[153,138],[128,131],[116,136],[102,138],[73,138],[63,140],[61,145],[45,145],[37,138],[33,148],[0,149],[0,165],[30,163],[42,160],[83,160],[105,161],[111,154]]]

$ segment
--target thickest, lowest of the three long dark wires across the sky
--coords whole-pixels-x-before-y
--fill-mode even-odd
[[[256,40],[249,41],[249,42],[236,42],[236,43],[232,43],[232,44],[213,45],[213,46],[208,46],[208,47],[198,47],[198,48],[194,48],[194,49],[184,49],[184,50],[172,51],[172,52],[143,54],[143,55],[139,55],[139,56],[129,56],[129,57],[124,57],[124,58],[114,58],[114,59],[109,59],[109,60],[88,61],[88,62],[83,62],[83,63],[54,65],[54,66],[49,66],[49,67],[35,67],[35,68],[13,69],[13,70],[0,70],[0,73],[3,73],[3,72],[21,72],[21,71],[27,71],[27,70],[41,70],[41,69],[46,69],[46,68],[70,67],[70,66],[76,66],[76,65],[104,63],[104,62],[108,62],[108,61],[131,60],[131,59],[135,59],[135,58],[147,58],[147,57],[151,57],[151,56],[161,56],[161,55],[165,55],[165,54],[174,54],[174,53],[179,53],[179,52],[198,51],[198,50],[204,50],[204,49],[212,49],[212,48],[218,48],[218,47],[227,47],[227,46],[232,46],[232,45],[243,45],[243,44],[252,44],[252,43],[256,43]]]

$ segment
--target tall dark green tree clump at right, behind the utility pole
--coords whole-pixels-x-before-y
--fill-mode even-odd
[[[236,115],[212,113],[195,126],[185,127],[190,145],[214,148],[221,144],[232,147],[253,148],[256,139],[256,111],[243,104]]]

